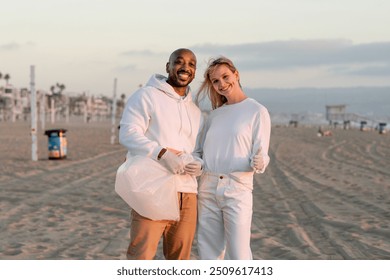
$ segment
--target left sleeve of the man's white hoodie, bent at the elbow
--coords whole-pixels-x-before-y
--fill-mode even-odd
[[[153,103],[148,96],[144,89],[140,89],[126,102],[120,121],[119,142],[132,155],[156,159],[163,147],[145,136],[153,110]]]

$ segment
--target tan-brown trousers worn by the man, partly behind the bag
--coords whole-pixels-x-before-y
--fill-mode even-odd
[[[197,219],[197,195],[178,193],[180,220],[153,221],[132,210],[129,260],[154,259],[163,237],[163,253],[167,260],[188,260],[191,255]]]

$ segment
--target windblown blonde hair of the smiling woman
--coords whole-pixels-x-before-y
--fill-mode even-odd
[[[211,101],[211,106],[214,109],[221,107],[223,104],[227,102],[227,99],[225,96],[220,95],[213,87],[213,84],[210,80],[210,74],[214,71],[214,69],[219,65],[226,65],[230,71],[233,73],[238,72],[237,68],[234,66],[233,62],[224,57],[220,56],[218,58],[212,58],[209,60],[208,66],[206,68],[206,71],[204,73],[204,81],[202,82],[198,93],[195,97],[196,104],[199,105],[200,101],[205,98],[205,96],[208,96]],[[240,83],[240,81],[238,81]],[[240,84],[241,86],[241,84]]]

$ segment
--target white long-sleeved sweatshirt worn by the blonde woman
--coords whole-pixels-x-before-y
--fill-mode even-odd
[[[211,111],[203,134],[197,156],[203,158],[206,172],[252,172],[251,160],[259,147],[265,162],[260,172],[269,163],[270,116],[254,99],[246,98]]]

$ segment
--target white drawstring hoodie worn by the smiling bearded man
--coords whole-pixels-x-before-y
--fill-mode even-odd
[[[162,75],[153,75],[127,100],[119,130],[119,142],[127,148],[127,157],[157,159],[161,149],[167,147],[187,154],[193,152],[203,125],[201,111],[192,102],[190,90],[182,97],[166,80]],[[178,191],[197,192],[195,177],[176,177]]]

